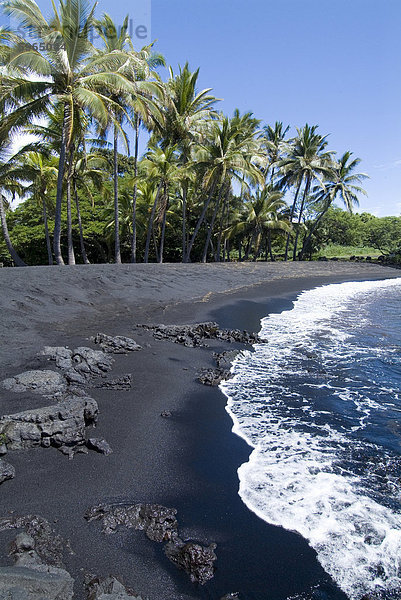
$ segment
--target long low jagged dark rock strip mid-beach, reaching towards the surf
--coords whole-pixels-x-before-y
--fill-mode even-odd
[[[184,346],[207,346],[205,340],[217,339],[226,342],[254,344],[259,341],[258,335],[238,329],[220,329],[213,321],[196,325],[138,325],[153,332],[158,340],[169,340]]]

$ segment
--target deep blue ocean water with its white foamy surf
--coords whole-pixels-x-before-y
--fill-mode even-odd
[[[401,279],[306,291],[261,325],[221,386],[253,448],[242,500],[308,540],[351,600],[400,599]]]

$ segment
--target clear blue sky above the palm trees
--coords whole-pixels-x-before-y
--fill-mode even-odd
[[[144,24],[173,68],[200,67],[228,114],[319,125],[370,175],[360,209],[401,214],[400,0],[99,0],[102,12]]]

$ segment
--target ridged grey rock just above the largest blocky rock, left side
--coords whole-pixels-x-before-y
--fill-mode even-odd
[[[63,346],[46,346],[42,354],[54,360],[68,383],[83,385],[92,377],[107,373],[114,359],[102,350],[80,346],[70,350]]]

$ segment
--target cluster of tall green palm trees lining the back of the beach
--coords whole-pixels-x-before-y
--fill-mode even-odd
[[[75,264],[77,237],[79,260],[89,262],[81,218],[88,199],[112,205],[106,233],[116,263],[122,243],[127,256],[127,235],[132,262],[163,262],[166,251],[183,262],[263,253],[273,260],[273,245],[285,260],[290,250],[302,259],[333,202],[357,204],[366,177],[355,173],[359,159],[347,152],[336,160],[317,126],[291,138],[280,122],[261,127],[238,110],[225,116],[210,89],[198,91],[199,70],[170,68],[162,81],[164,58],[152,45],[135,50],[128,18],[118,27],[107,14],[97,20],[94,9],[87,0],[59,0],[47,20],[34,0],[3,5],[36,40],[0,30],[0,217],[16,265],[25,263],[6,219],[16,194],[41,206],[48,262],[59,265],[62,250]],[[93,29],[100,48],[90,41]],[[149,137],[142,157],[141,131]],[[35,141],[10,157],[21,133]],[[120,149],[130,157],[123,174]]]

